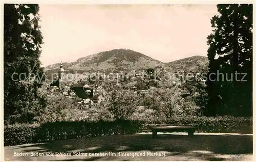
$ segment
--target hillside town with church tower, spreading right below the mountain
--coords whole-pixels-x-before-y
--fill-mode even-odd
[[[167,73],[164,68],[157,70],[158,71],[156,71],[156,73],[158,74],[160,73],[160,70],[162,70],[162,73]],[[183,71],[177,70],[175,73],[177,79],[169,80],[169,82],[172,82],[173,84],[179,84],[179,82],[182,81],[182,72]],[[160,75],[157,77],[154,76],[153,68],[138,71],[131,70],[131,72],[126,73],[126,75],[123,75],[123,71],[120,73],[110,74],[108,76],[104,73],[99,78],[99,80],[101,79],[101,82],[94,82],[91,84],[88,82],[91,76],[83,76],[83,80],[78,78],[79,81],[74,84],[74,80],[71,80],[72,82],[67,80],[67,73],[68,70],[65,70],[62,63],[60,63],[60,67],[58,69],[58,77],[55,77],[51,83],[48,83],[47,90],[50,94],[62,94],[67,98],[75,98],[76,102],[80,105],[80,110],[88,110],[95,105],[104,102],[106,96],[109,95],[111,90],[122,89],[126,91],[135,91],[136,93],[146,92],[148,89],[157,88],[162,81],[162,77],[160,77]],[[197,74],[199,75],[199,73]],[[110,80],[112,80],[112,82],[110,82]],[[202,80],[201,82],[204,83],[205,80]]]

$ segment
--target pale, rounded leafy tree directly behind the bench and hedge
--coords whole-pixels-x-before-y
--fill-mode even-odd
[[[199,107],[193,99],[184,97],[186,93],[188,92],[181,89],[178,84],[165,82],[163,87],[150,90],[146,94],[145,104],[157,112],[155,117],[162,119],[198,115]]]

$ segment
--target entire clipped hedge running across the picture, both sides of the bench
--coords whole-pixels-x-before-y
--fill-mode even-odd
[[[198,128],[196,132],[252,133],[252,118],[243,117],[177,118],[165,121],[164,124],[193,125]],[[131,134],[143,131],[150,132],[148,124],[138,120],[60,121],[42,125],[14,124],[4,128],[4,145],[44,143],[56,140],[109,136],[112,134]]]

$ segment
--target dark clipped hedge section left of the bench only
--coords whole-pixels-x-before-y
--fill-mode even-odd
[[[56,140],[130,134],[142,131],[141,121],[54,122],[15,124],[4,128],[4,145],[44,143]]]

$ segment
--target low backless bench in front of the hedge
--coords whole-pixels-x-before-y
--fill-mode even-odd
[[[195,127],[193,126],[150,126],[152,130],[153,138],[157,138],[157,132],[174,132],[185,130],[188,133],[188,136],[193,136]]]

